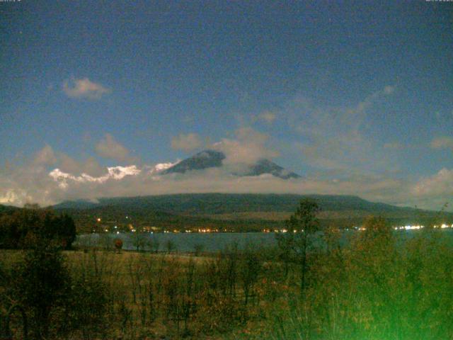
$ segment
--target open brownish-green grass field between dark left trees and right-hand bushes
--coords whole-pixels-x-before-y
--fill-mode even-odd
[[[25,254],[25,251],[0,251],[0,267],[11,270]],[[252,332],[263,334],[266,331],[263,327],[265,305],[257,295],[263,287],[254,287],[245,305],[237,259],[233,260],[237,263],[230,263],[234,267],[226,268],[226,263],[221,263],[224,259],[216,254],[194,256],[135,251],[64,251],[63,254],[75,281],[88,278],[88,281],[103,284],[105,315],[96,322],[103,322],[105,327],[101,327],[102,331],[99,325],[91,327],[98,329],[92,335],[95,339],[96,336],[103,339],[112,339],[110,336],[114,339],[248,339]],[[220,268],[222,266],[224,268]],[[227,271],[231,270],[228,276]],[[255,281],[252,284],[258,283]],[[96,297],[91,298],[96,300]],[[86,301],[86,307],[90,304]],[[69,339],[79,339],[79,336],[84,335],[76,332]]]

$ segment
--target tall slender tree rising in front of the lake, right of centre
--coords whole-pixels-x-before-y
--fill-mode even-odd
[[[319,220],[316,217],[319,210],[316,201],[301,200],[296,212],[285,221],[287,232],[276,234],[284,261],[294,261],[299,265],[301,297],[306,286],[307,251],[311,246],[313,234],[319,230]]]

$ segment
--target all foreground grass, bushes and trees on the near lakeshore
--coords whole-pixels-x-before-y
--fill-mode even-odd
[[[340,246],[303,201],[275,249],[218,254],[0,254],[0,327],[16,339],[452,339],[453,246],[425,227],[401,242],[382,218]],[[302,232],[302,229],[304,232]],[[21,314],[24,312],[24,315]]]

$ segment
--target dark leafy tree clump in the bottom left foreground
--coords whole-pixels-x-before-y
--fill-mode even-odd
[[[31,339],[73,339],[74,331],[93,339],[105,327],[107,297],[91,269],[71,266],[69,271],[61,246],[37,239],[11,271],[0,271],[6,278],[0,283],[0,305],[6,301],[25,311]]]

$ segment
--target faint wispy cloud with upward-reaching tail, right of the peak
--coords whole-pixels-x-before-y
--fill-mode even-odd
[[[393,94],[385,86],[355,106],[321,107],[297,97],[283,108],[288,124],[301,135],[295,147],[304,161],[323,170],[346,174],[374,173],[389,169],[389,155],[377,147],[377,140],[367,134],[367,112],[380,98]],[[390,145],[386,145],[390,147]],[[381,151],[379,151],[381,149]]]

